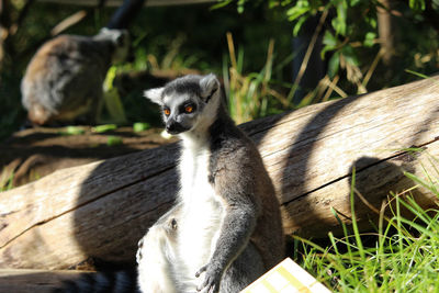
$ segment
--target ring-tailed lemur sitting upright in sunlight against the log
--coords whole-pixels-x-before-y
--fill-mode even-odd
[[[145,95],[181,138],[176,206],[138,250],[144,293],[239,292],[283,258],[279,202],[254,143],[222,103],[214,75],[185,76]]]

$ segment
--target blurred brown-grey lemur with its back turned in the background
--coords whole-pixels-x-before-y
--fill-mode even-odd
[[[130,46],[127,31],[109,29],[91,37],[60,35],[45,43],[21,82],[29,120],[42,125],[87,114],[87,122],[95,122],[106,71],[128,57]]]

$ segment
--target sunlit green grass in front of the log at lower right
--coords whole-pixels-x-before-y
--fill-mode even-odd
[[[406,173],[416,184],[439,196],[437,187]],[[327,247],[295,237],[302,246],[299,262],[334,292],[439,292],[439,211],[423,210],[410,195],[391,194],[380,211],[378,227],[360,234],[354,218],[354,173],[351,187],[352,232],[328,234]],[[384,215],[384,209],[392,216]],[[413,219],[401,215],[402,209]],[[335,216],[339,219],[336,212]]]

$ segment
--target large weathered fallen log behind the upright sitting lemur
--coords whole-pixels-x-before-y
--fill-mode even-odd
[[[439,78],[311,105],[241,127],[273,180],[284,230],[338,233],[335,209],[350,222],[350,178],[378,209],[391,191],[437,176]],[[408,148],[421,148],[412,153]],[[90,257],[133,261],[137,240],[172,204],[176,144],[59,170],[0,194],[0,267],[65,269]],[[419,187],[425,206],[435,195]],[[378,216],[356,200],[361,227]]]

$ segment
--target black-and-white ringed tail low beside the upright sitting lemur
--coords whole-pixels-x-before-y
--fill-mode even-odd
[[[139,293],[135,271],[85,273],[78,280],[65,281],[53,293]]]

